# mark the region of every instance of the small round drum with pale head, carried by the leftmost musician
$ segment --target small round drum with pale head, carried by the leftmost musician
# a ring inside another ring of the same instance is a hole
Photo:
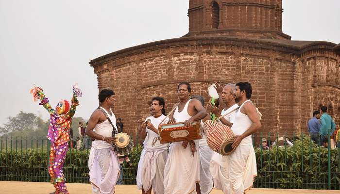
[[[129,154],[134,146],[132,138],[126,133],[117,133],[115,137],[117,137],[117,142],[113,147],[116,149],[117,153],[120,155]]]

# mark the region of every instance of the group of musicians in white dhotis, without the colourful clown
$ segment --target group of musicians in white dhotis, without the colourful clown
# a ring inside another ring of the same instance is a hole
[[[144,139],[143,150],[137,170],[137,187],[142,194],[207,194],[218,188],[223,193],[243,194],[253,185],[256,176],[255,151],[252,134],[261,123],[250,97],[252,87],[249,82],[227,84],[216,83],[221,99],[218,107],[204,108],[204,98],[191,96],[191,86],[182,82],[177,87],[179,102],[165,115],[165,100],[153,97],[150,116],[138,122],[137,131]],[[92,113],[86,134],[95,140],[89,156],[89,175],[93,193],[112,194],[121,177],[121,165],[125,156],[118,156],[112,148],[117,141],[112,133],[122,130],[121,120],[117,122],[111,107],[115,93],[104,89],[99,94],[101,106]],[[238,109],[235,109],[238,108]],[[102,109],[112,121],[104,116]],[[162,123],[184,122],[190,126],[194,121],[210,119],[210,112],[223,115],[235,111],[221,119],[221,124],[231,128],[236,135],[232,147],[235,151],[222,156],[207,146],[203,134],[201,140],[174,142],[170,145],[159,141],[158,126]],[[118,119],[117,119],[118,120]],[[113,127],[112,127],[113,126]]]

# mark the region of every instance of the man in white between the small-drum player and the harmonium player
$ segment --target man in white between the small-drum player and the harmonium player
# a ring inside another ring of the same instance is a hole
[[[159,143],[158,125],[165,119],[165,102],[162,97],[153,97],[149,116],[142,123],[139,132],[145,136],[145,151],[141,165],[138,168],[142,194],[164,194],[164,166],[168,158],[168,144]],[[167,123],[168,120],[166,119]]]

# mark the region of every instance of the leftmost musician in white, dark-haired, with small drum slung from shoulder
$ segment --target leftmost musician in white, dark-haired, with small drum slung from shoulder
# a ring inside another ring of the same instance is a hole
[[[115,101],[114,95],[115,93],[108,89],[103,89],[100,92],[98,98],[101,106],[92,113],[86,127],[86,134],[95,139],[92,142],[88,159],[93,194],[115,193],[119,177],[117,153],[112,146],[116,143],[112,132],[113,130],[117,132],[116,116],[111,111]]]

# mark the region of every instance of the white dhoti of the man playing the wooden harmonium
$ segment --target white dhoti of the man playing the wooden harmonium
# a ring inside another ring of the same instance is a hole
[[[195,141],[198,150],[198,141]],[[172,143],[164,169],[165,194],[195,194],[196,183],[200,181],[200,156],[192,156],[190,145],[183,148],[182,142]]]

